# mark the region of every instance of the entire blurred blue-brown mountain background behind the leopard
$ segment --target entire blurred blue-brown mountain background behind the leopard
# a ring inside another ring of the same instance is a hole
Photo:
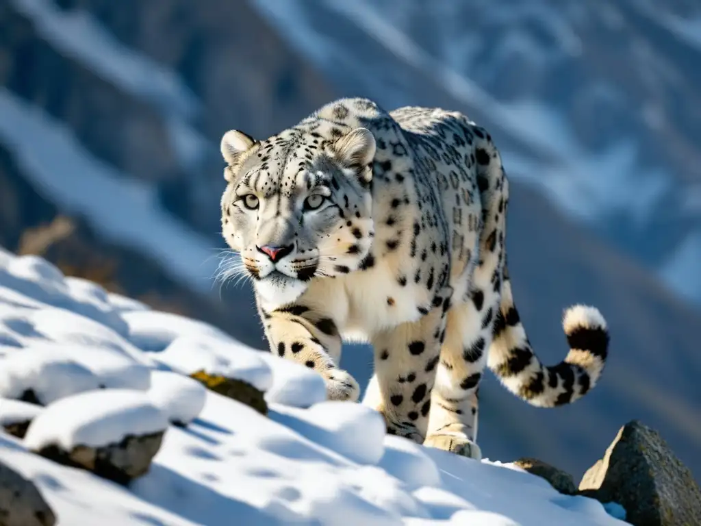
[[[538,410],[488,377],[479,442],[580,475],[639,418],[701,473],[701,4],[692,0],[0,0],[0,245],[264,349],[220,288],[219,138],[341,96],[457,109],[512,180],[515,297],[611,326],[604,377]],[[360,381],[367,346],[343,363]]]

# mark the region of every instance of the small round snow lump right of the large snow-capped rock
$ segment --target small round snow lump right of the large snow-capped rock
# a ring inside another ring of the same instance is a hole
[[[205,407],[207,389],[197,380],[176,372],[153,371],[149,398],[172,424],[186,425]]]

